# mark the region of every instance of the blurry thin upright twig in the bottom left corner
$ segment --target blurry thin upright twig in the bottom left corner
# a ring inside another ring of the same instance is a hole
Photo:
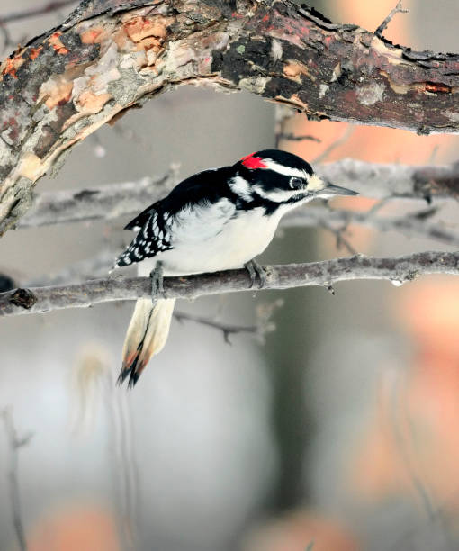
[[[23,528],[23,517],[21,513],[21,500],[19,494],[19,448],[26,446],[30,439],[31,433],[20,438],[14,428],[13,414],[9,408],[1,411],[4,420],[4,430],[6,438],[8,438],[8,446],[10,453],[10,468],[8,472],[11,508],[13,512],[14,531],[18,540],[21,551],[27,551],[27,542]]]

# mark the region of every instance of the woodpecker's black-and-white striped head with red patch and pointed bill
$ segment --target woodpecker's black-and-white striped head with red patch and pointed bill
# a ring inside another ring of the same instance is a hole
[[[330,184],[315,174],[305,160],[278,149],[265,149],[247,155],[236,163],[235,168],[238,176],[231,187],[246,199],[255,193],[272,203],[298,203],[334,195],[357,194]]]

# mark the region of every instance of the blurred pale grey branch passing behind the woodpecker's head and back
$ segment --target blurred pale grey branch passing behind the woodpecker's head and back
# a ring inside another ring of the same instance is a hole
[[[319,165],[316,170],[331,182],[356,189],[365,197],[375,199],[414,199],[422,202],[427,197],[456,199],[459,190],[457,165],[412,167],[366,163],[347,158]],[[101,218],[111,220],[137,214],[148,204],[164,197],[176,182],[177,168],[173,166],[165,176],[85,190],[36,194],[31,209],[18,221],[17,228]]]

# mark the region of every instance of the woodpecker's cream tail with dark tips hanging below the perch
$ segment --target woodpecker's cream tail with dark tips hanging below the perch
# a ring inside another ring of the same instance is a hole
[[[129,386],[134,386],[148,364],[166,344],[175,299],[139,299],[130,320],[122,349],[121,374],[118,383],[129,376]]]

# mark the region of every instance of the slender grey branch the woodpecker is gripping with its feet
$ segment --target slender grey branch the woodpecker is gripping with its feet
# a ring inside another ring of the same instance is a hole
[[[428,274],[459,275],[459,253],[422,252],[404,257],[377,258],[356,255],[308,264],[266,266],[266,289],[320,285],[332,288],[340,281],[377,279],[401,285]],[[251,291],[247,270],[216,274],[166,277],[166,298],[194,299],[202,295]],[[134,300],[151,294],[148,277],[112,277],[84,284],[16,289],[0,294],[0,315],[50,312],[97,303]]]

